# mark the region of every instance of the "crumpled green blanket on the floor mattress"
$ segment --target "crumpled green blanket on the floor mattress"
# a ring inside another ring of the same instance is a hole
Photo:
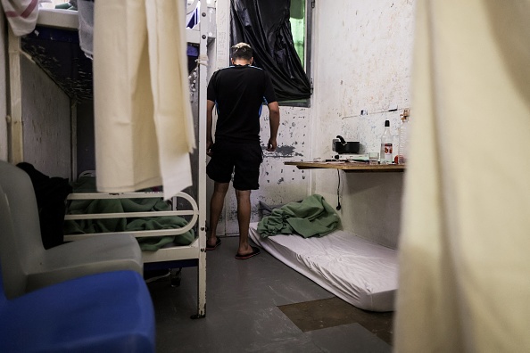
[[[301,202],[290,202],[273,209],[270,216],[261,219],[258,233],[261,238],[276,234],[300,234],[304,238],[331,233],[340,218],[322,196],[313,194]]]

